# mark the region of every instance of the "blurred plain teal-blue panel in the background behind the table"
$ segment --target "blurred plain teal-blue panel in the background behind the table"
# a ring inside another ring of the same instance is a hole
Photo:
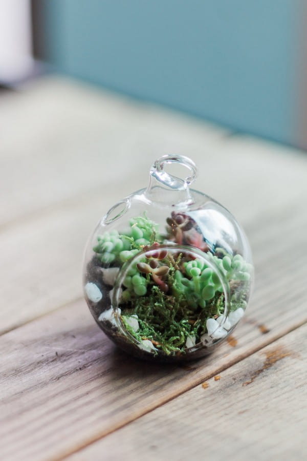
[[[295,143],[296,0],[44,0],[63,73]]]

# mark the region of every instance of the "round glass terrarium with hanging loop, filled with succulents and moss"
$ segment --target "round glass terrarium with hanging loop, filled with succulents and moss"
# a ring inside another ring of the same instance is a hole
[[[167,173],[169,163],[187,167],[189,176]],[[161,157],[148,187],[114,205],[87,243],[86,302],[102,330],[137,357],[201,357],[247,307],[247,238],[227,209],[189,187],[195,178],[189,158]]]

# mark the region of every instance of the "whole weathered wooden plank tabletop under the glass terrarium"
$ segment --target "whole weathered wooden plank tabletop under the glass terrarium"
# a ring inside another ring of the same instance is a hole
[[[256,266],[231,340],[185,365],[122,354],[82,298],[87,236],[165,153]],[[306,459],[304,153],[50,77],[1,95],[0,155],[1,459]]]

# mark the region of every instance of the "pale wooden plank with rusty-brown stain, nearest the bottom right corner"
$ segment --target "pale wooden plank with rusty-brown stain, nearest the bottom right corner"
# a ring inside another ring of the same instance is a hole
[[[68,459],[306,459],[306,338],[287,334]]]

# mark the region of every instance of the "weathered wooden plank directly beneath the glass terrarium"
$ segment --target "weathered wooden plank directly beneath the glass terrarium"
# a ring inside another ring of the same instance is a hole
[[[305,228],[304,219],[298,214],[293,225]],[[188,366],[162,366],[126,357],[99,331],[83,301],[4,334],[0,338],[3,457],[61,458],[304,323],[304,235],[296,233],[295,239],[286,239],[276,249],[266,245],[267,234],[262,231],[262,240],[257,240],[262,283],[249,313],[233,341],[207,359]]]

